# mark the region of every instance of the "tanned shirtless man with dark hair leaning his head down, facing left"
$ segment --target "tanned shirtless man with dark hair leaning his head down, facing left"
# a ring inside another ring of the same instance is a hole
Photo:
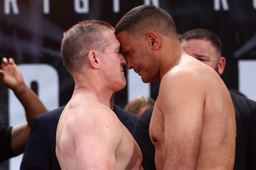
[[[180,46],[172,17],[153,5],[130,10],[115,35],[144,83],[161,80],[149,133],[157,170],[232,170],[235,116],[220,76]]]

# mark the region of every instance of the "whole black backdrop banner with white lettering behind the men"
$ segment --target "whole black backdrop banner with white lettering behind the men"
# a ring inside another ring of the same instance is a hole
[[[67,104],[74,80],[62,64],[63,32],[86,19],[115,24],[133,7],[154,4],[166,10],[178,34],[193,28],[214,31],[223,45],[226,67],[221,78],[256,100],[256,0],[0,0],[0,53],[14,58],[25,83],[47,109]],[[127,85],[115,95],[124,108],[138,95],[156,99],[159,81],[143,83],[133,70],[125,69]],[[0,84],[0,125],[25,121],[25,111],[11,90]],[[17,170],[22,156],[0,169]]]

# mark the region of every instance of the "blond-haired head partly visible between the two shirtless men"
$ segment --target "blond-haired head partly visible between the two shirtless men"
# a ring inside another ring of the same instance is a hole
[[[140,116],[147,108],[153,106],[154,104],[155,100],[151,97],[137,96],[126,104],[124,110]]]

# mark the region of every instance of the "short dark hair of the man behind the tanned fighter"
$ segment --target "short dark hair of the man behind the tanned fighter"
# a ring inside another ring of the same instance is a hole
[[[222,45],[220,42],[220,38],[213,31],[203,29],[203,28],[196,28],[196,29],[192,29],[187,32],[184,32],[184,34],[182,34],[179,38],[180,43],[184,40],[188,41],[191,39],[208,40],[209,42],[211,42],[213,47],[215,47],[217,53],[220,54],[218,57],[220,58],[222,56]]]

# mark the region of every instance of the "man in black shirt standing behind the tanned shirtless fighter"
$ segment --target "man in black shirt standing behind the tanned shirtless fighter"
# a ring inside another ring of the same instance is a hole
[[[220,39],[212,31],[194,29],[180,37],[182,48],[190,56],[204,62],[221,75],[224,72],[225,58],[222,57]],[[230,92],[234,104],[237,136],[234,170],[256,169],[256,102]],[[149,124],[153,107],[148,108],[137,120],[133,137],[141,148],[142,167],[155,170],[155,148],[149,137]]]

